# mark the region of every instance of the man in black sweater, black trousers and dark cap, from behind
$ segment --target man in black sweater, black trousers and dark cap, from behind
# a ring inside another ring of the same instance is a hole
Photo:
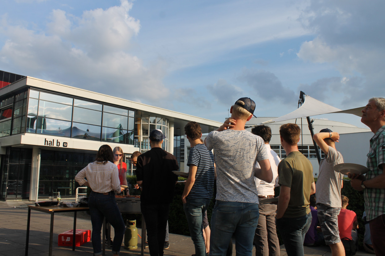
[[[136,178],[142,187],[141,211],[146,222],[151,256],[162,256],[170,203],[174,198],[179,169],[176,157],[161,148],[163,135],[159,129],[149,135],[151,150],[137,157]]]

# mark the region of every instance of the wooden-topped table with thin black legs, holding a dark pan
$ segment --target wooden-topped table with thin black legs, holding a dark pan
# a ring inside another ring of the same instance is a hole
[[[41,211],[44,213],[49,213],[51,215],[50,223],[50,233],[49,233],[49,256],[52,256],[52,238],[54,233],[54,214],[62,212],[74,212],[74,235],[72,238],[72,251],[75,251],[75,232],[76,232],[76,213],[78,211],[88,211],[88,207],[60,207],[60,206],[34,206],[28,205],[28,217],[27,217],[27,237],[25,239],[25,255],[28,255],[28,245],[29,245],[29,228],[31,221],[31,210]]]

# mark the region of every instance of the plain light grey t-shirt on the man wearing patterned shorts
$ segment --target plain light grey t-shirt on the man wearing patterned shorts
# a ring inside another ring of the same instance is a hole
[[[320,172],[316,183],[316,200],[329,207],[341,208],[341,185],[343,174],[333,170],[334,165],[342,164],[340,152],[329,146],[328,157],[320,162]]]

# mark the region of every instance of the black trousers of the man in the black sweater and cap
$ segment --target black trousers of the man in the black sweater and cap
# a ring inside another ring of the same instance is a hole
[[[166,225],[170,211],[169,203],[141,203],[146,222],[147,241],[151,256],[163,256]]]

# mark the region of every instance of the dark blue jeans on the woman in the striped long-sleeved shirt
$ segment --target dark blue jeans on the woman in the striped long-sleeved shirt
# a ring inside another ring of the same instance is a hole
[[[90,208],[92,223],[91,240],[92,247],[94,248],[94,255],[97,256],[102,254],[100,233],[104,217],[114,227],[115,231],[114,243],[112,243],[112,253],[119,254],[126,226],[124,225],[122,215],[116,204],[114,192],[103,195],[92,191],[88,199],[88,206]]]

